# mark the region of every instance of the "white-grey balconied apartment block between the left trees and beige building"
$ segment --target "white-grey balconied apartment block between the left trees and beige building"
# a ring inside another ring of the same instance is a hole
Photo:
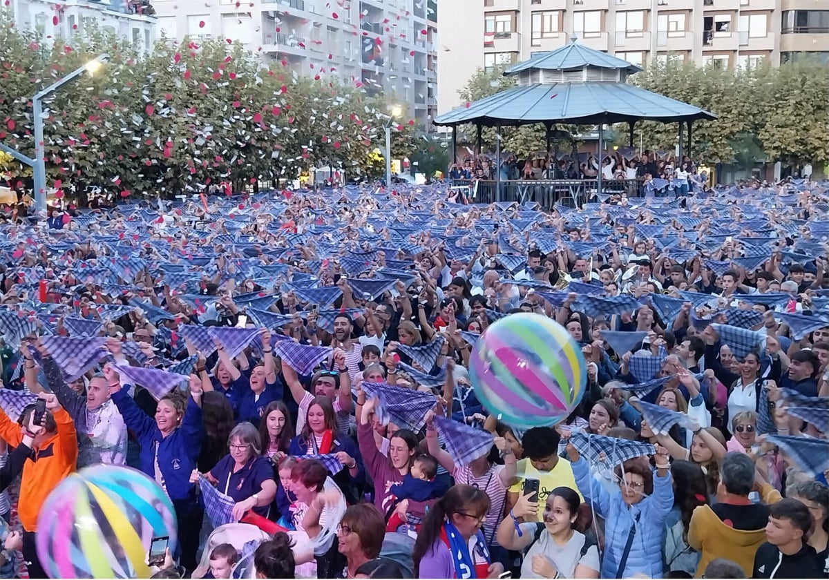
[[[381,89],[424,127],[437,114],[436,0],[153,0],[160,34],[240,41],[299,75]]]

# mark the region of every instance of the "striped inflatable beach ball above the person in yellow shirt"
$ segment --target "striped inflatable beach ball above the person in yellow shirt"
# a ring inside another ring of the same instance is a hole
[[[511,427],[560,423],[581,401],[587,369],[570,333],[541,314],[496,321],[469,358],[469,380],[489,413]]]

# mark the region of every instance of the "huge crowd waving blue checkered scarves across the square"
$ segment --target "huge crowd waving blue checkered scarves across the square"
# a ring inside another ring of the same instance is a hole
[[[45,578],[39,510],[97,463],[172,500],[158,578],[829,576],[827,183],[454,199],[0,216],[0,576]],[[470,382],[517,312],[584,355],[555,425]]]

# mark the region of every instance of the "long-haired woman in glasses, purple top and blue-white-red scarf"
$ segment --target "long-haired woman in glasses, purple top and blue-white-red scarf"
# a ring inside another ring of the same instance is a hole
[[[473,486],[452,486],[429,510],[414,542],[417,578],[498,578],[502,563],[491,563],[481,526],[489,496]]]

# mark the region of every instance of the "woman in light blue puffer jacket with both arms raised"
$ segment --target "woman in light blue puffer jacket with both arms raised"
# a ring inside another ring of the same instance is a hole
[[[567,454],[584,501],[607,522],[601,578],[637,573],[662,578],[663,527],[674,500],[667,449],[657,446],[655,476],[642,457],[617,466],[619,485],[613,491],[590,475],[588,463],[572,443]]]

